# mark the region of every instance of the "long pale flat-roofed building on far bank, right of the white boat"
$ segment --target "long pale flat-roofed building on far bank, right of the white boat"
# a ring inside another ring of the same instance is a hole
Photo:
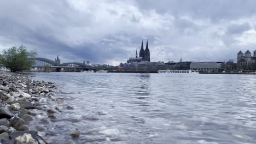
[[[198,71],[217,71],[222,64],[223,62],[192,62],[190,69]]]

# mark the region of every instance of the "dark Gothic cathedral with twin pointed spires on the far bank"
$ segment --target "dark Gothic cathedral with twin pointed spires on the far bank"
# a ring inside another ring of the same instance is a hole
[[[147,44],[146,44],[146,49],[145,50],[144,50],[143,40],[142,40],[142,42],[141,42],[141,50],[139,50],[139,57],[138,57],[138,52],[136,50],[135,57],[130,57],[127,60],[127,63],[142,62],[142,61],[150,62],[150,52],[149,52],[149,49],[148,49],[148,40],[147,40]]]

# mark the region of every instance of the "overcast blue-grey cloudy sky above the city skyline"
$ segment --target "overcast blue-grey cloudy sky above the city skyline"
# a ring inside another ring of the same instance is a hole
[[[24,45],[62,62],[119,64],[148,39],[152,61],[236,60],[256,50],[251,0],[0,0],[0,50]],[[146,44],[144,44],[146,45]]]

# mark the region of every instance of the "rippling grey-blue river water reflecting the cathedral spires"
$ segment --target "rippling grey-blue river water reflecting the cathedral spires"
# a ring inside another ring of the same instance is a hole
[[[46,131],[55,143],[75,129],[75,143],[256,143],[255,75],[34,75],[64,99]]]

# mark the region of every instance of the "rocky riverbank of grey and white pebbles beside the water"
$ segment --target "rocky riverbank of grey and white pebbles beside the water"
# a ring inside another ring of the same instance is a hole
[[[55,89],[52,82],[0,71],[0,143],[51,143],[45,130],[60,109],[47,101],[63,101]]]

